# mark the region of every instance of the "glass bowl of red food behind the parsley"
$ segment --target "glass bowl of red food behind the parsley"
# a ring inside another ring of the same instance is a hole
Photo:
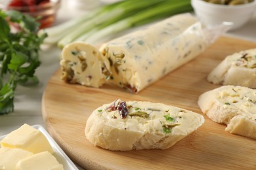
[[[24,14],[30,14],[38,22],[41,23],[39,29],[51,26],[56,20],[56,13],[60,8],[60,0],[49,0],[47,3],[32,6],[10,6],[9,4],[15,0],[6,1],[0,0],[0,9],[3,10],[18,10]]]

